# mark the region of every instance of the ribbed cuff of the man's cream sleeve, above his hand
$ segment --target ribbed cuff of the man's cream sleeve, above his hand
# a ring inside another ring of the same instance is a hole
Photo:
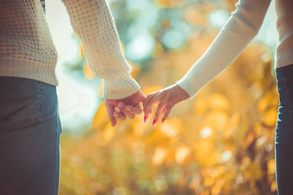
[[[130,74],[111,80],[103,79],[104,89],[103,98],[105,99],[123,99],[138,92],[141,87]]]

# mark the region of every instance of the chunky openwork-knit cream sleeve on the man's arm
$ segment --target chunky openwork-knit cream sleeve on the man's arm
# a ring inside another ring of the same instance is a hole
[[[130,76],[106,0],[63,0],[91,71],[104,80],[103,98],[122,99],[140,90]]]

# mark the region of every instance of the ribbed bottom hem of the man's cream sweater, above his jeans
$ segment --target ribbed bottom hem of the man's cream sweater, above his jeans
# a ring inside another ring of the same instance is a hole
[[[0,76],[30,78],[58,86],[55,68],[30,61],[0,59]]]

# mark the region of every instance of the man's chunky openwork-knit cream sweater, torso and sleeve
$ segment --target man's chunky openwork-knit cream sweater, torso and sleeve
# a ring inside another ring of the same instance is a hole
[[[130,76],[106,0],[63,3],[90,69],[104,80],[103,97],[121,99],[137,92],[140,86]],[[1,0],[0,76],[31,78],[57,86],[57,59],[40,0]]]

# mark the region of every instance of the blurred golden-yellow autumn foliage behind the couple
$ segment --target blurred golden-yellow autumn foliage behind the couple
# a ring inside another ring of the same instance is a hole
[[[115,3],[111,6],[118,6]],[[209,1],[153,3],[164,12],[182,12],[183,20],[197,30],[184,46],[175,49],[161,42],[161,34],[171,28],[172,20],[162,20],[152,31],[155,47],[151,58],[140,65],[128,61],[132,77],[145,94],[184,76],[218,33],[206,21],[208,14],[219,8],[230,12],[235,1],[223,0],[220,7]],[[176,105],[169,118],[154,127],[152,119],[145,124],[141,115],[113,128],[102,102],[92,128],[81,137],[66,132],[61,137],[60,194],[276,194],[278,94],[271,66],[270,49],[251,43],[225,72],[194,98]],[[94,78],[86,63],[83,71],[86,78]]]

